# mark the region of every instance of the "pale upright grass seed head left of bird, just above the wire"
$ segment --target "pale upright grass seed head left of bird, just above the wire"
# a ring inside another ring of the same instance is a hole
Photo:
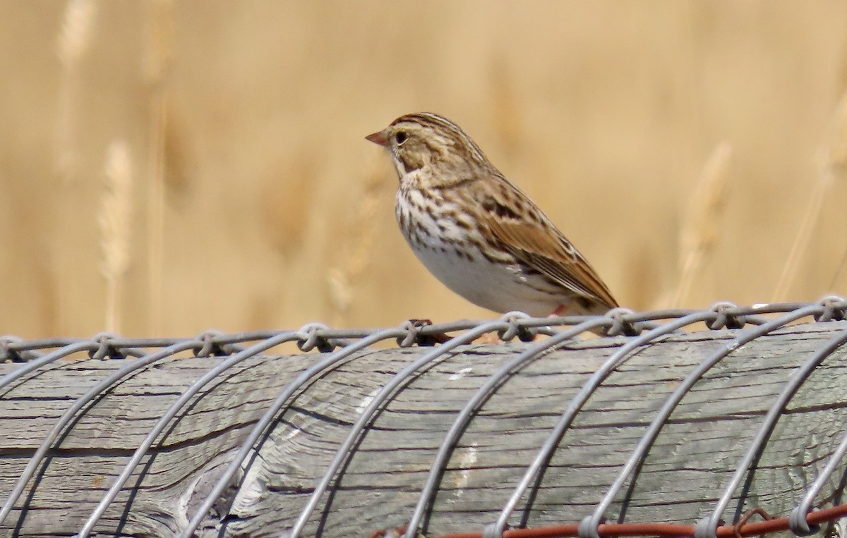
[[[106,279],[106,327],[120,332],[121,280],[130,265],[130,213],[132,167],[123,140],[113,142],[106,153],[106,189],[97,217],[100,226],[102,274]]]

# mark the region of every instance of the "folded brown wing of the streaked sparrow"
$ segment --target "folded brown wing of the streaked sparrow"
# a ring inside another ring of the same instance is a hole
[[[583,255],[532,200],[512,188],[514,190],[506,196],[484,194],[478,199],[482,208],[481,223],[490,230],[491,236],[519,261],[574,294],[601,302],[610,309],[616,307],[612,292]],[[529,218],[518,217],[522,214]]]

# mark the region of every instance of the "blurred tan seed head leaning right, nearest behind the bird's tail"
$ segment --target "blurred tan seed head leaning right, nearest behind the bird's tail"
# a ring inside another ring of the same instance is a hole
[[[728,166],[732,145],[722,142],[711,152],[695,188],[680,233],[680,277],[673,305],[682,305],[695,277],[715,249],[720,221],[727,199]]]

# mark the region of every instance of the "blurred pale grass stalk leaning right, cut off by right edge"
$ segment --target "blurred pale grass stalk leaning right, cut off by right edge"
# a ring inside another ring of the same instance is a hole
[[[803,220],[800,222],[800,230],[797,232],[797,237],[794,238],[788,260],[785,261],[782,275],[780,275],[777,287],[773,292],[774,302],[788,299],[789,288],[797,277],[800,261],[805,257],[805,252],[811,243],[811,233],[821,215],[827,191],[832,187],[835,178],[844,175],[844,170],[847,169],[847,92],[844,92],[844,96],[841,97],[839,106],[835,111],[832,135],[829,137],[827,146],[820,153],[818,169],[817,181],[811,191],[809,205],[805,209]],[[838,272],[840,272],[840,267]],[[836,277],[838,272],[836,272]]]

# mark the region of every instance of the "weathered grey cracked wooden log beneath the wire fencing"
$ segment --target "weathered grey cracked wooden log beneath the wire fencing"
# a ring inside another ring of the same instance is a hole
[[[844,330],[845,322],[789,327],[736,349],[711,369],[663,427],[609,519],[624,507],[628,520],[641,521],[693,523],[709,513],[794,369]],[[635,353],[590,398],[534,504],[513,523],[524,515],[531,525],[577,522],[590,513],[678,382],[736,334],[680,334]],[[503,384],[452,454],[429,534],[479,530],[493,521],[570,399],[625,341],[569,343]],[[457,411],[526,345],[465,346],[396,393],[324,495],[306,535],[368,535],[404,524]],[[356,354],[297,395],[258,447],[237,495],[219,503],[224,517],[210,513],[198,535],[277,536],[290,527],[369,396],[424,351]],[[824,361],[789,404],[742,509],[787,513],[826,464],[847,432],[845,354],[839,349]],[[209,385],[152,447],[97,525],[98,535],[167,536],[183,528],[264,409],[319,357],[256,357]],[[221,360],[164,360],[105,393],[64,432],[0,535],[73,535],[158,417]],[[64,409],[122,362],[66,360],[0,390],[0,500]],[[0,376],[17,367],[0,365]],[[822,503],[840,499],[844,469],[830,480]],[[725,518],[733,519],[735,509]]]

